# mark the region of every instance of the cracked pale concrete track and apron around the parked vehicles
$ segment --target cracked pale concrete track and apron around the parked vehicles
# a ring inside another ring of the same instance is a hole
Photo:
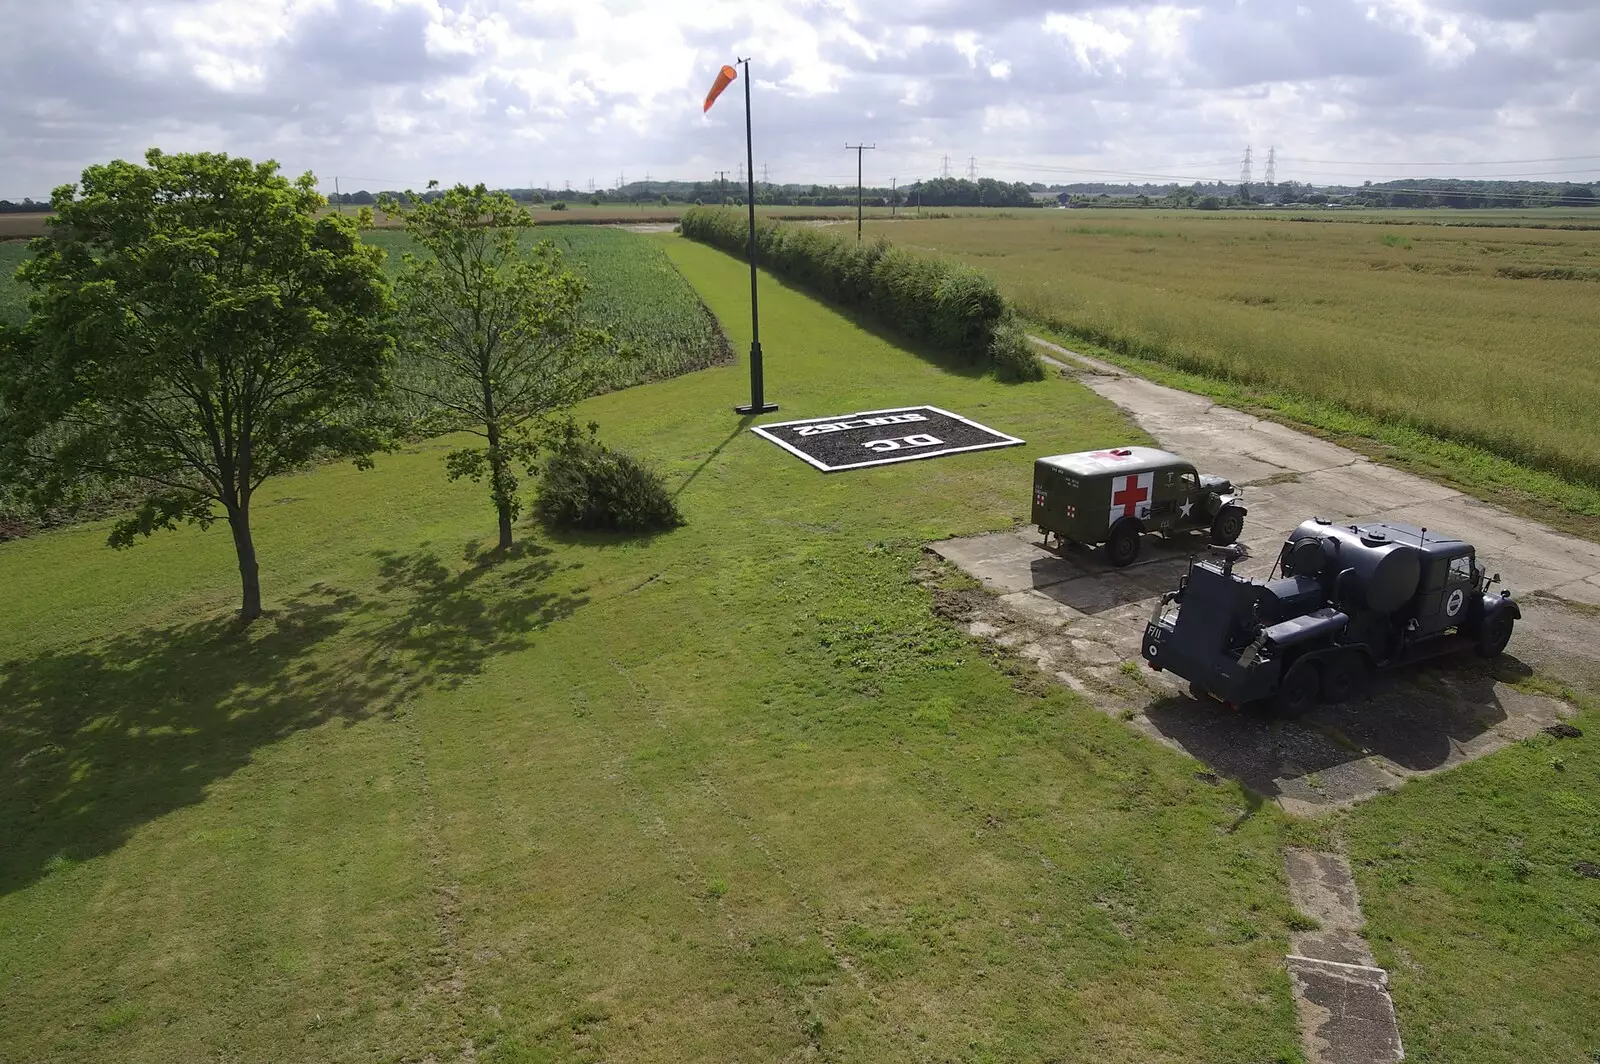
[[[1202,472],[1245,486],[1250,518],[1240,571],[1264,576],[1283,538],[1307,517],[1400,520],[1470,541],[1523,608],[1509,651],[1389,674],[1366,698],[1278,720],[1197,702],[1170,674],[1126,669],[1162,592],[1178,586],[1200,536],[1146,536],[1139,562],[1112,570],[1098,552],[1045,550],[1032,528],[950,539],[931,549],[994,592],[949,614],[1158,742],[1181,749],[1314,814],[1482,757],[1557,723],[1571,709],[1517,686],[1534,669],[1600,690],[1600,544],[1565,536],[1459,491],[1381,466],[1347,448],[1214,402],[1123,374],[1043,344],[1051,362],[1110,398],[1158,443]],[[1070,360],[1074,365],[1066,365]],[[1022,488],[1019,488],[1021,491]]]

